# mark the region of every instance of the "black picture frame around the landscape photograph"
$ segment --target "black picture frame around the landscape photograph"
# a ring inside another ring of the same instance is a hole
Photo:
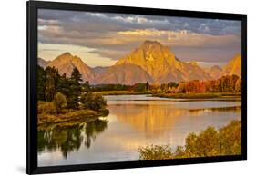
[[[26,173],[55,173],[82,170],[113,170],[138,167],[167,166],[194,163],[247,160],[247,15],[183,10],[167,10],[112,5],[84,5],[28,1],[27,5],[27,150]],[[136,15],[167,15],[197,18],[218,18],[241,21],[241,155],[204,158],[186,158],[177,160],[145,160],[79,164],[65,166],[37,166],[37,130],[36,130],[36,65],[37,65],[37,9],[61,9],[72,11],[108,12]]]

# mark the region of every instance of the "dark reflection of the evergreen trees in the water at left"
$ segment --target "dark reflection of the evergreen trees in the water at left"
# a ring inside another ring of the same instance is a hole
[[[97,137],[97,134],[107,129],[108,121],[99,120],[72,125],[69,127],[57,126],[48,131],[38,131],[37,151],[60,150],[65,158],[70,151],[78,151],[81,143],[87,148]]]

